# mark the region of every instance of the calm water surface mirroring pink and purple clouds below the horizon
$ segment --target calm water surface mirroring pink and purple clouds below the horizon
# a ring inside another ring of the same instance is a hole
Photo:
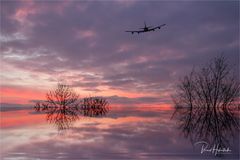
[[[112,107],[104,115],[70,118],[33,109],[2,111],[1,159],[239,159],[237,129],[224,137],[229,154],[201,154],[173,112]]]

